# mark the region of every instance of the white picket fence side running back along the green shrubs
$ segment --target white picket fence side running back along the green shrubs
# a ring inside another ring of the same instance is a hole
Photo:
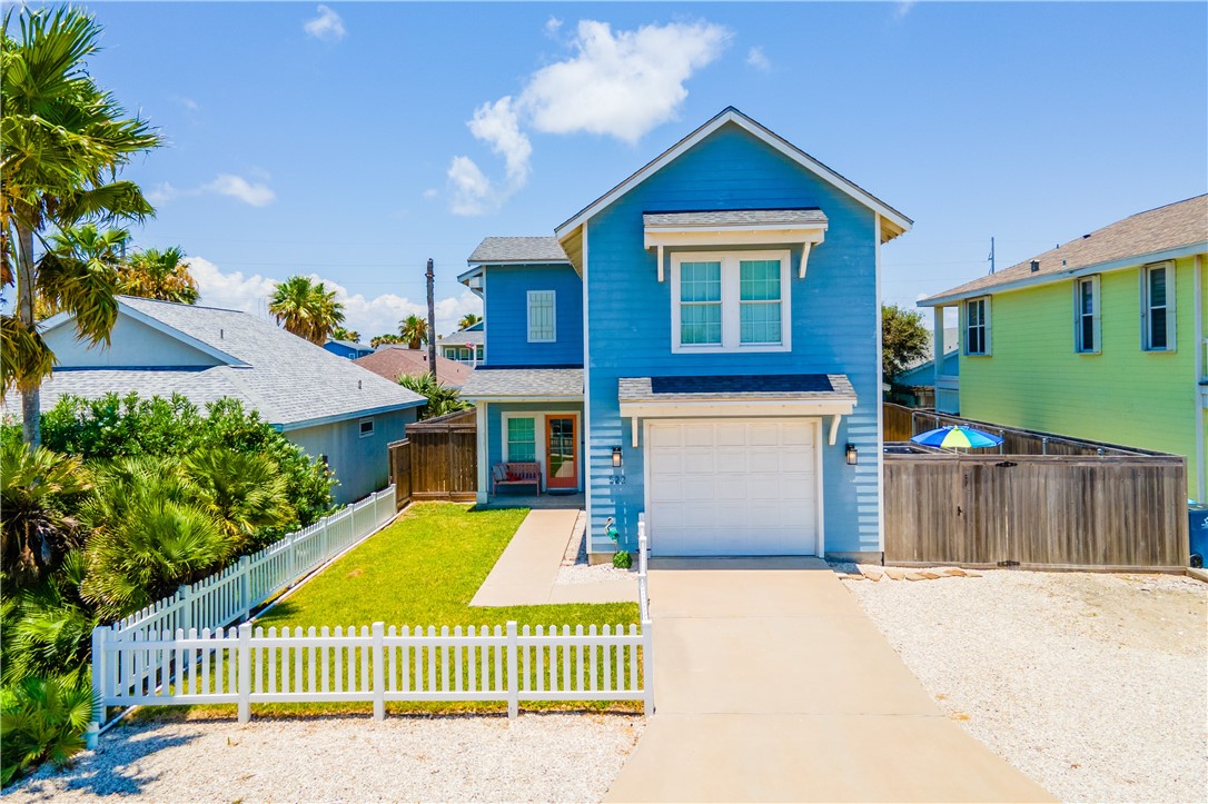
[[[394,487],[390,485],[254,555],[244,555],[208,578],[181,587],[170,598],[101,628],[109,630],[110,636],[147,639],[152,634],[213,629],[246,619],[256,606],[366,538],[394,514]]]

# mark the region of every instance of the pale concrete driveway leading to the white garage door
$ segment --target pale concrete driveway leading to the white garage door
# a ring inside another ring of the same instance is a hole
[[[651,563],[655,715],[609,802],[1050,802],[817,559]]]

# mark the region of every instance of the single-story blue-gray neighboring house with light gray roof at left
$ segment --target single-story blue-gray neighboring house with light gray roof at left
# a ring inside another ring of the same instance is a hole
[[[42,409],[65,395],[110,391],[182,394],[204,407],[234,397],[312,456],[323,456],[347,503],[383,488],[387,444],[405,435],[426,400],[246,313],[118,297],[111,344],[89,348],[71,317],[47,319],[42,337],[58,357],[42,385]],[[4,413],[21,415],[19,395]]]

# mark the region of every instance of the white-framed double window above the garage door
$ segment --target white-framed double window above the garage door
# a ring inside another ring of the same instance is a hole
[[[672,255],[672,351],[789,349],[789,252]]]

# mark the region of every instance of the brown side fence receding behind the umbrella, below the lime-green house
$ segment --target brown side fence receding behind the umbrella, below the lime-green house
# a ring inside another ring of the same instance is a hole
[[[1148,449],[1133,447],[1121,447],[1099,441],[1087,441],[1084,438],[1070,438],[1057,436],[1050,432],[1036,430],[1024,430],[1022,427],[1004,427],[991,421],[978,421],[976,419],[962,419],[960,416],[936,413],[935,410],[923,410],[907,408],[892,402],[882,403],[882,425],[884,441],[910,441],[911,437],[946,427],[948,425],[964,425],[976,427],[989,433],[1003,437],[1001,447],[987,449],[975,449],[971,454],[994,455],[1162,455]]]

